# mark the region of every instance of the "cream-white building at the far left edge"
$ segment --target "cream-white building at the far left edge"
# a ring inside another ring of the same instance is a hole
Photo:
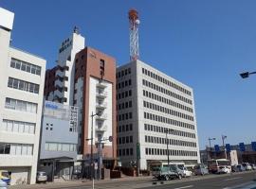
[[[14,13],[0,8],[0,169],[35,183],[46,60],[9,46]]]

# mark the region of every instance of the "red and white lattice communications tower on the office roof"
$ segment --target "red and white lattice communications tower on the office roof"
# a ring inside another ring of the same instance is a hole
[[[137,60],[139,57],[138,12],[136,9],[130,9],[128,15],[129,15],[129,24],[130,24],[130,60]]]

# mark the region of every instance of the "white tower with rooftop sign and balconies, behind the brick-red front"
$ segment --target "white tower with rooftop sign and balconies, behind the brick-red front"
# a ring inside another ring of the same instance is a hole
[[[73,105],[75,56],[84,48],[85,39],[77,27],[72,35],[61,43],[57,66],[46,71],[46,99]],[[52,75],[52,77],[50,77]],[[54,82],[54,85],[52,84]]]

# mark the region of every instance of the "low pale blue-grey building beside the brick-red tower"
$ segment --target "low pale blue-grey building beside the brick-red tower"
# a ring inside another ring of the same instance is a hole
[[[77,159],[78,108],[46,101],[43,112],[39,170],[71,179]],[[54,173],[52,173],[54,170]]]

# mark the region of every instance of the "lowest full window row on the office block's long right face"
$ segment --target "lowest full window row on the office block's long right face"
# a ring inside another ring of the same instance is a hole
[[[146,147],[145,153],[146,153],[146,155],[166,156],[168,151],[167,151],[167,149]],[[171,156],[197,156],[197,151],[169,149],[169,155],[171,155]]]

